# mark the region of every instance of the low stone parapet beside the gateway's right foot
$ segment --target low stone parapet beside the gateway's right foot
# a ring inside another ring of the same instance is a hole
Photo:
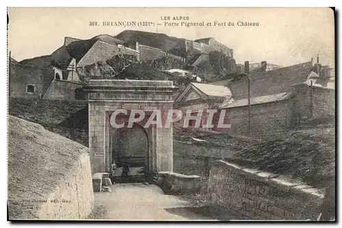
[[[200,192],[200,176],[173,172],[159,172],[157,185],[167,194]]]

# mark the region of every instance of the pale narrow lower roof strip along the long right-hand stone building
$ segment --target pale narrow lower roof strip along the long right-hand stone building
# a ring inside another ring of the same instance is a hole
[[[256,105],[259,103],[269,103],[269,102],[274,102],[274,101],[284,101],[286,99],[289,99],[291,97],[292,93],[291,92],[281,92],[278,94],[270,94],[266,96],[261,96],[261,97],[252,97],[250,99],[250,104],[251,105]],[[220,108],[231,108],[231,107],[241,107],[241,106],[246,106],[248,105],[248,99],[241,99],[238,101],[235,101],[231,104],[228,105],[222,105]]]

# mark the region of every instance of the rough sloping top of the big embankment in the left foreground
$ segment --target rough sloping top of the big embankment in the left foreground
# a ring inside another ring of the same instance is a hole
[[[8,118],[8,213],[34,219],[88,148],[21,118]],[[34,201],[32,203],[32,201]]]

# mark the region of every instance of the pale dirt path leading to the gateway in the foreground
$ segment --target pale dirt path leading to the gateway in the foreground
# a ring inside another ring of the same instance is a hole
[[[212,220],[192,212],[192,205],[163,194],[155,185],[120,183],[112,192],[94,192],[95,206],[88,219],[101,220]]]

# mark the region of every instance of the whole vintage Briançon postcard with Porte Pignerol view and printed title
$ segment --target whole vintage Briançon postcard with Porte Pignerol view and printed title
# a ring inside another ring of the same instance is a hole
[[[334,221],[332,8],[8,8],[8,220]]]

